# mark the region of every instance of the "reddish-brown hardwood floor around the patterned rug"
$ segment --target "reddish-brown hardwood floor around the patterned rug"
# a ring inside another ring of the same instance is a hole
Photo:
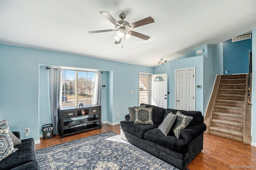
[[[65,136],[62,139],[60,135],[48,139],[40,138],[41,143],[36,144],[36,150],[107,131],[120,134],[120,127],[106,124],[102,129]],[[190,170],[256,169],[256,147],[213,134],[204,134],[204,149],[187,168]]]

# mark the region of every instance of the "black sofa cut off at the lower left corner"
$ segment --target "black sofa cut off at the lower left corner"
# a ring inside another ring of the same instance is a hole
[[[20,139],[20,132],[12,132]],[[14,153],[0,161],[0,170],[40,170],[36,161],[35,144],[33,138],[23,139],[14,146],[18,148]]]

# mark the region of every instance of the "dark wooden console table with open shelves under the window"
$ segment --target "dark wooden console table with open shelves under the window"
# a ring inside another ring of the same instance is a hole
[[[101,129],[100,105],[62,107],[58,109],[58,132],[61,138],[96,128]]]

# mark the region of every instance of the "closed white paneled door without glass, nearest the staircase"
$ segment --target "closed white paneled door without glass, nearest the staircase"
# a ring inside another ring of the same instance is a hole
[[[176,109],[194,111],[194,68],[176,70]]]

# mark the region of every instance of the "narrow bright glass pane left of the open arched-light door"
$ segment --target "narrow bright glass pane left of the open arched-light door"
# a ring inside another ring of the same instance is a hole
[[[150,79],[148,74],[140,74],[139,79],[139,105],[140,103],[150,104]]]

